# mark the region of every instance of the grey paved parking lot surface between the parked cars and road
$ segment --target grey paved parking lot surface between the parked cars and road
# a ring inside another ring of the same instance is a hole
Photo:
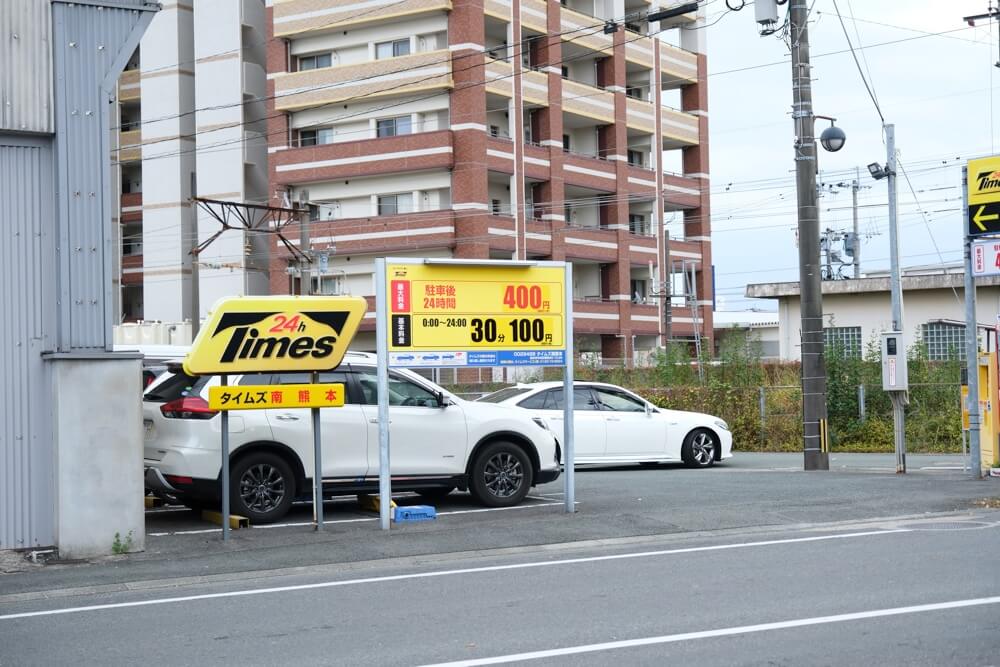
[[[908,475],[893,474],[891,455],[839,455],[830,473],[805,473],[797,454],[738,454],[708,470],[680,466],[595,468],[577,472],[577,513],[563,511],[562,480],[537,487],[520,506],[484,510],[465,493],[437,503],[438,519],[394,524],[353,497],[325,505],[322,532],[312,509],[295,507],[271,527],[221,529],[183,508],[147,514],[147,550],[90,564],[29,567],[0,578],[0,595],[77,585],[230,575],[317,564],[364,563],[393,557],[517,549],[681,533],[763,530],[890,516],[961,512],[1000,497],[1000,480],[973,481],[953,456],[911,456]],[[400,504],[422,502],[401,495]],[[235,573],[235,574],[234,574]]]

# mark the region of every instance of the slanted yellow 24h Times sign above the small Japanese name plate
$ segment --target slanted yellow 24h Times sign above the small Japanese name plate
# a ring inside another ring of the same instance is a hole
[[[233,297],[215,304],[184,359],[188,375],[336,368],[367,310],[362,297]]]

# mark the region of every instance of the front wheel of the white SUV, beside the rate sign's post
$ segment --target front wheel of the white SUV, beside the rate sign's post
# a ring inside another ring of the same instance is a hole
[[[534,469],[527,452],[510,442],[494,442],[476,456],[469,490],[486,507],[510,507],[528,495],[532,479]]]

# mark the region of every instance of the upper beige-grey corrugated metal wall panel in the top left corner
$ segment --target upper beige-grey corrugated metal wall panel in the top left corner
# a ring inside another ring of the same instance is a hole
[[[0,130],[52,132],[49,3],[0,2]]]

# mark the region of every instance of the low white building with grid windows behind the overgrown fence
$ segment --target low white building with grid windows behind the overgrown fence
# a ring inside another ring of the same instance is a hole
[[[912,267],[903,270],[903,334],[907,347],[921,341],[931,359],[962,356],[965,346],[965,293],[961,266]],[[993,327],[1000,313],[1000,277],[976,280],[977,321]],[[747,285],[746,296],[778,301],[778,354],[800,358],[799,283]],[[864,354],[868,343],[892,326],[888,272],[872,272],[858,280],[823,282],[826,342],[852,355]]]

